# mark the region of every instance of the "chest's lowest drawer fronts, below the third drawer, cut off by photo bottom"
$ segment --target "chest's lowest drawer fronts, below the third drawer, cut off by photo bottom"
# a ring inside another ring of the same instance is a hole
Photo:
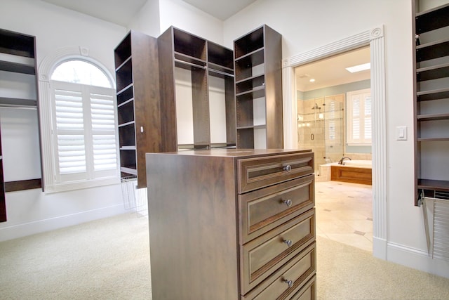
[[[242,300],[315,299],[316,244],[313,242],[300,254],[255,287]],[[310,296],[310,298],[308,298]]]

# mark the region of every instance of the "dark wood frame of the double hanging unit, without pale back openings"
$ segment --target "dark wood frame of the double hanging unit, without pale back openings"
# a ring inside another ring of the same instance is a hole
[[[234,68],[232,50],[170,27],[158,38],[159,77],[161,86],[161,119],[163,150],[180,148],[214,148],[235,145]],[[176,72],[180,68],[190,72],[192,81],[193,144],[179,145],[177,139],[177,101],[184,100],[176,93]],[[210,133],[210,80],[225,81],[226,141],[215,145]]]

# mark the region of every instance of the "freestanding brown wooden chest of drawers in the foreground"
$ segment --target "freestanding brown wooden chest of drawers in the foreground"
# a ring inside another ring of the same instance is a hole
[[[146,158],[154,300],[315,298],[313,152]]]

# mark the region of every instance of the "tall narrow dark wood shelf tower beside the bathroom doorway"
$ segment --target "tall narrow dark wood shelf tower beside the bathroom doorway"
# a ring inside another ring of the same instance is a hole
[[[234,40],[237,148],[283,148],[281,60],[267,25]]]

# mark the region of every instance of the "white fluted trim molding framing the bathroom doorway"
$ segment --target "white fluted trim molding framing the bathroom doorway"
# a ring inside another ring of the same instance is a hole
[[[294,68],[315,60],[370,46],[373,99],[373,254],[387,259],[387,115],[385,98],[384,26],[312,49],[282,62],[284,148],[297,148]]]

